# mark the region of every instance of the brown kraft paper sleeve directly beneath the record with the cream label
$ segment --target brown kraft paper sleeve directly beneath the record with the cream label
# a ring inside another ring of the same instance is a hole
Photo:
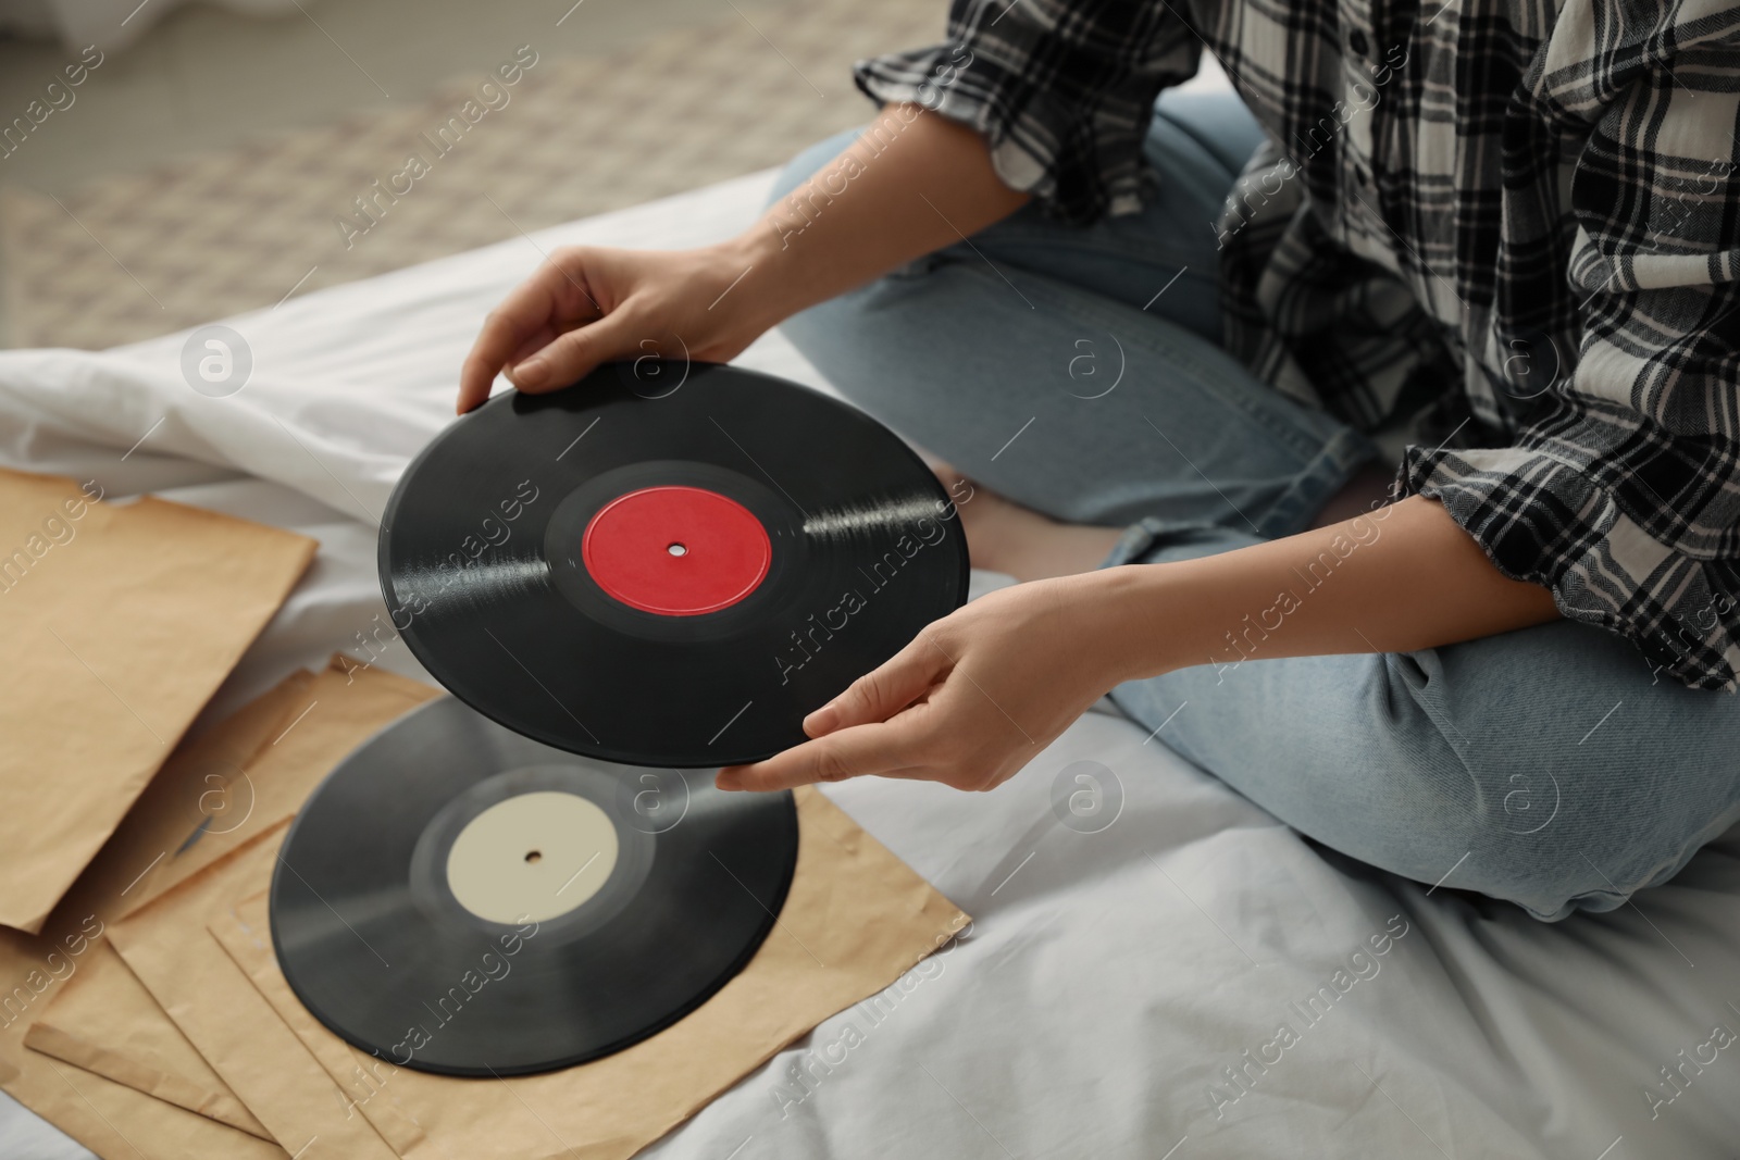
[[[797,802],[797,875],[748,967],[658,1035],[564,1071],[498,1082],[393,1068],[348,1047],[289,991],[263,896],[212,915],[211,929],[404,1160],[621,1160],[828,1016],[894,983],[967,922],[820,791],[804,788]],[[440,1033],[433,1017],[428,1028]]]

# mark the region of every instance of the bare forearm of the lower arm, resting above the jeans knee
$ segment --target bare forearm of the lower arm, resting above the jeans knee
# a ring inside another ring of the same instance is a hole
[[[1115,682],[1192,664],[1409,652],[1557,617],[1432,499],[1213,557],[1081,577]]]

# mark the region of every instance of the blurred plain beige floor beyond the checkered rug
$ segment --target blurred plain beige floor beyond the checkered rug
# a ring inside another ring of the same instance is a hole
[[[532,43],[545,59],[599,57],[733,17],[726,0],[585,0],[569,10],[572,2],[298,0],[306,16],[292,9],[282,19],[177,7],[96,70],[77,113],[50,118],[30,148],[0,160],[0,181],[64,197],[90,177],[405,108],[491,68],[508,45]],[[56,43],[0,40],[0,123],[71,59],[77,52]]]

